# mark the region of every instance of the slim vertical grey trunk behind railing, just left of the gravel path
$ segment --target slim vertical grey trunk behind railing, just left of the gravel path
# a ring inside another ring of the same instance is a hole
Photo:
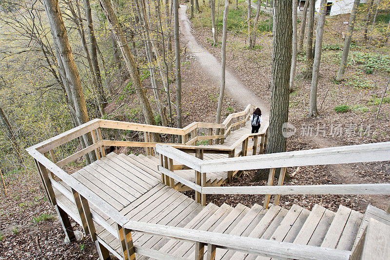
[[[174,0],[174,17],[175,17],[175,56],[176,56],[176,120],[177,127],[182,128],[181,121],[181,72],[180,72],[180,38],[179,38],[179,0]],[[181,136],[177,137],[177,141],[181,142]]]

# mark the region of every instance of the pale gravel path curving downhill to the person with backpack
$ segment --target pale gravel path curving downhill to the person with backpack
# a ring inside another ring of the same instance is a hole
[[[191,53],[197,58],[202,72],[217,85],[221,85],[221,63],[203,46],[201,46],[191,32],[191,25],[186,15],[187,6],[180,5],[179,25],[180,38],[184,41]],[[249,103],[259,107],[264,120],[268,121],[270,117],[269,105],[260,100],[250,89],[248,89],[234,74],[227,68],[225,78],[225,91],[229,96],[236,100],[240,105],[246,107]]]

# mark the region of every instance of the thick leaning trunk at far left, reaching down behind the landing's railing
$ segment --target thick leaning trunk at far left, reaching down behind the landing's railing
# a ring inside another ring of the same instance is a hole
[[[75,60],[72,55],[72,50],[68,41],[67,31],[62,20],[61,12],[59,10],[58,0],[44,0],[43,1],[47,18],[50,24],[50,31],[53,36],[54,45],[56,48],[56,57],[63,66],[65,77],[62,80],[67,80],[70,86],[70,94],[75,107],[76,120],[78,125],[89,121],[87,106],[82,91],[80,76]],[[64,85],[65,85],[64,84]],[[92,145],[92,137],[90,134],[85,134],[83,140],[86,146]],[[95,161],[95,153],[89,153],[86,156],[87,162]]]

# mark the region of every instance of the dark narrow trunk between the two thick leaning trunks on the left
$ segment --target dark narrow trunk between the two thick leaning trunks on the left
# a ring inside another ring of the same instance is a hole
[[[94,68],[96,83],[97,83],[97,90],[98,90],[98,100],[102,103],[103,107],[103,113],[104,113],[104,107],[107,104],[106,95],[104,94],[103,89],[103,83],[101,81],[101,73],[98,63],[98,41],[95,37],[94,32],[94,25],[92,22],[92,12],[91,12],[91,3],[89,0],[84,0],[84,8],[85,8],[85,17],[87,18],[87,25],[88,25],[88,38],[90,42],[90,50],[91,50],[91,60],[92,60],[92,67]]]

